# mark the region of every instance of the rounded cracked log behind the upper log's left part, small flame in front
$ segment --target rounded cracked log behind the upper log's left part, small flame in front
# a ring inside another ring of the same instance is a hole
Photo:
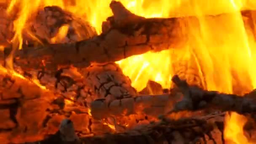
[[[28,21],[28,23],[29,31],[43,44],[74,43],[97,35],[96,30],[87,21],[83,21],[57,6],[43,8],[38,12],[35,20]],[[63,27],[64,29],[61,29]],[[58,37],[60,30],[63,30],[63,35]],[[28,34],[24,35],[27,37],[25,40],[32,41]]]

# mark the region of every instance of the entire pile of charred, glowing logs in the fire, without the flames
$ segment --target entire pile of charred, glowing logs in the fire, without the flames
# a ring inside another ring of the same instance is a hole
[[[166,93],[149,81],[148,86],[157,89],[149,95],[147,88],[136,91],[114,63],[147,51],[182,48],[189,33],[186,26],[199,25],[196,17],[146,19],[116,1],[110,8],[113,16],[103,22],[101,35],[56,6],[43,8],[28,21],[27,32],[38,40],[24,33],[27,43],[13,57],[16,72],[0,67],[2,143],[221,144],[225,111],[247,116],[245,135],[255,139],[254,91],[243,97],[205,91],[197,69],[190,79],[183,72],[189,67],[183,67],[176,70],[179,76],[173,77],[173,88]],[[12,51],[9,40],[16,18],[4,10],[3,6],[2,66]],[[255,12],[242,12],[249,27],[250,13]],[[65,24],[69,26],[66,38],[51,44]]]

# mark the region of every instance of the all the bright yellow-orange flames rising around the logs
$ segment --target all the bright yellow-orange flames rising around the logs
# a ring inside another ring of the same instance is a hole
[[[13,47],[22,48],[22,32],[31,13],[40,6],[58,5],[75,13],[84,20],[90,21],[101,33],[101,23],[112,15],[109,9],[111,0],[11,0],[8,13],[17,3],[21,8],[14,22],[15,36]],[[131,78],[132,85],[138,91],[143,89],[148,80],[155,80],[163,88],[171,85],[173,75],[171,65],[182,61],[182,56],[193,58],[199,67],[208,90],[225,93],[245,93],[256,88],[256,42],[252,32],[243,24],[240,11],[255,9],[255,0],[121,0],[131,12],[144,17],[197,16],[198,24],[190,23],[189,40],[182,51],[176,52],[179,58],[172,57],[173,51],[145,53],[117,61],[125,75]],[[86,5],[86,6],[85,6]],[[207,14],[224,14],[223,16],[206,17]],[[67,27],[62,27],[56,37],[64,37]],[[56,38],[53,38],[53,43]],[[188,54],[188,55],[187,55]],[[239,90],[237,90],[239,88]],[[244,91],[246,90],[246,91]],[[237,144],[248,143],[243,136],[245,118],[232,112],[227,115],[225,139]]]

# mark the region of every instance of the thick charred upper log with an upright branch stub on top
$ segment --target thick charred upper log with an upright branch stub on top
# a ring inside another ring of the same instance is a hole
[[[77,43],[24,48],[15,54],[15,63],[24,69],[56,68],[57,65],[69,64],[87,67],[91,62],[113,62],[147,51],[179,48],[189,38],[189,24],[195,25],[193,30],[200,30],[199,20],[194,16],[146,19],[129,12],[120,2],[112,1],[110,7],[114,16],[102,24],[101,35]],[[208,18],[228,15],[220,14]],[[1,60],[10,51],[10,48],[5,48],[5,53],[0,56]]]

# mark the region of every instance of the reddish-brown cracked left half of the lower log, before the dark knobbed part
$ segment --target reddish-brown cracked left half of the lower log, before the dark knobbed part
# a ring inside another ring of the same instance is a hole
[[[95,119],[109,116],[151,115],[158,117],[172,109],[182,99],[181,94],[141,95],[137,97],[117,99],[110,103],[98,99],[91,103],[91,115]]]

